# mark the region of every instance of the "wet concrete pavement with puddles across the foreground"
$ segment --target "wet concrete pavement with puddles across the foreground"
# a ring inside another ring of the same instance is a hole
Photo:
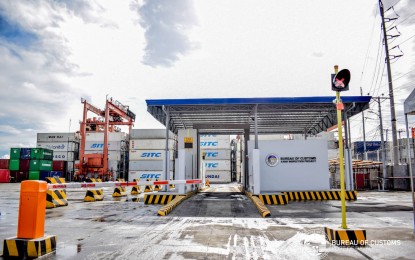
[[[16,235],[19,184],[0,184],[0,252]],[[157,216],[161,205],[115,200],[85,203],[85,190],[68,190],[69,205],[46,212],[45,233],[57,252],[43,259],[414,259],[409,192],[359,192],[347,202],[349,227],[365,228],[370,246],[328,245],[323,227],[341,223],[340,201],[268,205],[262,218],[236,185],[212,185]],[[143,197],[140,194],[139,197]]]

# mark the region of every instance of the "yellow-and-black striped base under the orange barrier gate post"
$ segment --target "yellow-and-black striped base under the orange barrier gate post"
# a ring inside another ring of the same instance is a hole
[[[38,258],[56,251],[56,236],[37,239],[8,238],[3,242],[3,257]]]

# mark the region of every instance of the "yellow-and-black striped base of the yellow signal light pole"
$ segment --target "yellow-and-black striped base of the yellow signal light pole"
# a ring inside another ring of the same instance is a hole
[[[332,229],[325,227],[326,240],[340,247],[361,247],[367,245],[364,229]]]

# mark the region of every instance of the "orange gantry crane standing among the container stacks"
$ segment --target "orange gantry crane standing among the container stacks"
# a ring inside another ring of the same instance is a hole
[[[130,133],[135,122],[135,114],[128,106],[124,106],[112,98],[106,99],[104,110],[93,106],[83,98],[81,98],[81,103],[84,104],[84,112],[82,122],[80,122],[81,145],[79,164],[75,165],[78,169],[75,173],[75,180],[94,177],[94,175],[98,175],[99,178],[104,180],[110,180],[112,172],[108,171],[108,133],[119,131],[118,125],[128,125]],[[88,118],[88,111],[101,118]],[[85,154],[87,132],[104,132],[102,154]]]

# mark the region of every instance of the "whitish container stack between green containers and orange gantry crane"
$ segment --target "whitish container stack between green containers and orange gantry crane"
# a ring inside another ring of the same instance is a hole
[[[78,133],[38,133],[37,147],[53,151],[52,175],[70,180],[79,157]]]

